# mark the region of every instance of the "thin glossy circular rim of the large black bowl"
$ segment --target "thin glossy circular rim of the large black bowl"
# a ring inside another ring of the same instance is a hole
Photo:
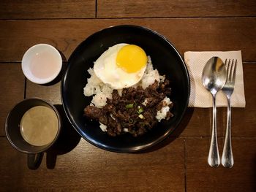
[[[111,151],[111,152],[116,152],[116,153],[135,153],[135,152],[139,152],[139,151],[142,151],[142,150],[146,150],[148,149],[149,147],[152,147],[154,145],[157,145],[159,142],[162,142],[164,139],[167,138],[168,135],[170,135],[177,127],[178,125],[181,123],[181,120],[182,118],[184,117],[184,113],[186,112],[187,110],[187,107],[188,107],[188,104],[189,104],[189,96],[190,96],[190,78],[189,78],[189,71],[187,69],[187,66],[184,62],[184,59],[181,57],[181,54],[178,52],[178,50],[176,49],[176,47],[174,47],[174,45],[166,38],[164,37],[162,34],[159,34],[157,31],[154,31],[150,28],[146,28],[144,26],[136,26],[136,25],[118,25],[118,26],[110,26],[110,27],[107,27],[107,28],[103,28],[99,31],[96,31],[94,34],[91,34],[89,35],[89,37],[87,37],[86,39],[84,39],[82,42],[80,42],[80,44],[75,48],[75,50],[73,50],[72,54],[69,56],[69,59],[67,61],[67,63],[69,64],[70,61],[72,61],[73,57],[75,57],[75,53],[77,52],[77,50],[80,49],[81,46],[83,46],[83,43],[88,41],[89,39],[91,39],[92,37],[96,36],[97,34],[100,34],[102,33],[103,31],[107,31],[107,30],[110,30],[111,28],[124,28],[124,27],[127,27],[127,28],[139,28],[139,29],[142,29],[142,30],[145,30],[145,31],[148,31],[152,34],[155,34],[159,37],[161,37],[162,39],[165,40],[165,42],[167,42],[168,45],[170,45],[170,47],[173,48],[173,50],[175,51],[176,55],[178,56],[178,58],[180,59],[181,63],[183,64],[184,66],[184,69],[185,69],[185,72],[186,72],[186,80],[187,80],[187,93],[188,93],[188,96],[187,96],[187,101],[186,101],[186,104],[184,107],[184,110],[182,111],[181,113],[181,118],[177,121],[176,123],[176,127],[175,128],[170,128],[168,131],[166,131],[165,134],[162,134],[161,137],[157,138],[156,140],[154,140],[153,142],[148,142],[144,145],[140,145],[140,146],[137,146],[137,147],[125,147],[125,148],[120,148],[120,147],[106,147],[105,145],[102,145],[100,144],[99,145],[99,142],[95,141],[94,139],[90,139],[90,138],[87,138],[85,137],[85,135],[83,133],[81,133],[79,130],[80,128],[77,128],[75,126],[75,123],[72,122],[72,118],[70,117],[69,115],[69,110],[67,109],[67,107],[65,106],[64,104],[64,95],[63,95],[63,91],[64,91],[64,82],[66,80],[66,77],[67,77],[67,72],[69,71],[69,67],[70,65],[67,66],[67,69],[66,71],[64,72],[63,76],[62,76],[62,80],[61,80],[61,102],[62,102],[62,105],[63,105],[63,108],[64,108],[64,112],[65,114],[67,115],[67,118],[69,120],[69,123],[71,123],[72,127],[75,128],[75,131],[78,132],[78,134],[80,134],[81,137],[83,137],[83,139],[85,139],[87,142],[89,142],[91,145],[94,145],[96,147],[99,147],[100,149],[102,150],[108,150],[108,151]]]

